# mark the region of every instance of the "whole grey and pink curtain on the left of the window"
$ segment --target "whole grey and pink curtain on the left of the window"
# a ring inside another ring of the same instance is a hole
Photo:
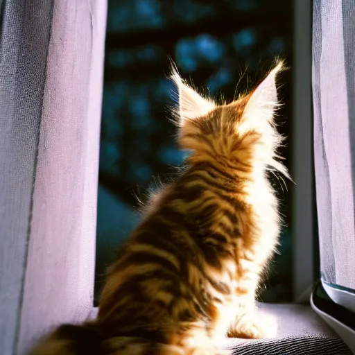
[[[6,1],[0,354],[92,310],[105,0]]]

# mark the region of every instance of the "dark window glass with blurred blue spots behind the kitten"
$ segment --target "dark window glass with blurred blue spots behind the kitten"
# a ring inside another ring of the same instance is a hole
[[[137,198],[153,176],[164,180],[182,162],[167,119],[170,56],[184,78],[232,100],[257,84],[275,55],[292,64],[292,2],[284,0],[111,0],[107,19],[101,128],[96,297],[117,246],[138,221]],[[245,67],[247,74],[243,76]],[[282,74],[279,130],[291,136],[292,76]],[[290,144],[282,148],[291,164]],[[291,191],[272,179],[285,226],[262,300],[292,299]]]

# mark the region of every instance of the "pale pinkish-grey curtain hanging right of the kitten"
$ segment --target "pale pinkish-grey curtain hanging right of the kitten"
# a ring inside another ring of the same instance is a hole
[[[315,0],[314,150],[322,281],[355,290],[355,4]]]

